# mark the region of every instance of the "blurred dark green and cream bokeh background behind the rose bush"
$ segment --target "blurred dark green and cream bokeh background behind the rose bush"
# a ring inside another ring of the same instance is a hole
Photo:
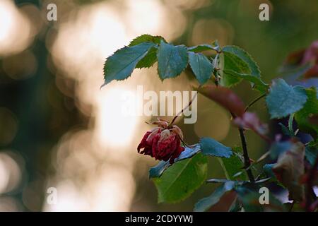
[[[50,3],[57,21],[47,21]],[[259,20],[261,3],[270,6],[269,21]],[[288,53],[317,40],[317,28],[315,0],[0,0],[0,210],[192,210],[214,186],[157,203],[148,179],[156,162],[136,152],[152,118],[118,114],[124,90],[191,90],[192,74],[162,83],[155,64],[100,90],[105,58],[144,33],[188,46],[218,40],[246,49],[269,82]],[[235,91],[246,103],[257,97],[247,83]],[[264,100],[252,111],[269,121]],[[199,96],[197,113],[196,124],[178,121],[187,143],[211,136],[239,145],[224,109]],[[253,133],[247,141],[252,158],[266,151]],[[209,177],[224,177],[216,160]],[[49,187],[57,188],[54,205]]]

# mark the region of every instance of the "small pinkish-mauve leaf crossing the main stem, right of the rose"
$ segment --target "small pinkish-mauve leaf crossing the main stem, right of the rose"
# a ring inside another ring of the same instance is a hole
[[[255,133],[264,135],[268,131],[268,126],[261,123],[257,114],[252,112],[245,112],[242,117],[237,117],[234,119],[234,124],[242,127],[243,129],[251,129]]]

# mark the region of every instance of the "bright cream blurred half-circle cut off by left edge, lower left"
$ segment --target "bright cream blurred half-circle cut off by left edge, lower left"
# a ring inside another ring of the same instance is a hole
[[[16,189],[21,180],[21,170],[11,153],[0,153],[0,194]],[[19,162],[20,163],[20,162]]]

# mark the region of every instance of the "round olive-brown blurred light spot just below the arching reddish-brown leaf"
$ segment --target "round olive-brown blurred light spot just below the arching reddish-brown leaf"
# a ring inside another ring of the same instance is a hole
[[[199,95],[198,109],[198,120],[194,124],[196,135],[199,137],[209,136],[217,141],[222,141],[230,130],[228,114],[202,95]]]

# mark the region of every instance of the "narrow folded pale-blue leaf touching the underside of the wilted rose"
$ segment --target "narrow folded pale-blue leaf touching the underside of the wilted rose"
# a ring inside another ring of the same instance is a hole
[[[200,150],[201,150],[201,147],[199,143],[194,145],[192,148],[185,147],[184,151],[182,151],[179,157],[175,159],[175,162],[192,157],[193,155],[198,153]],[[160,177],[161,174],[163,174],[163,172],[165,171],[165,169],[167,169],[170,166],[171,164],[169,161],[160,161],[158,165],[156,165],[155,167],[151,167],[151,169],[149,169],[149,178]]]

